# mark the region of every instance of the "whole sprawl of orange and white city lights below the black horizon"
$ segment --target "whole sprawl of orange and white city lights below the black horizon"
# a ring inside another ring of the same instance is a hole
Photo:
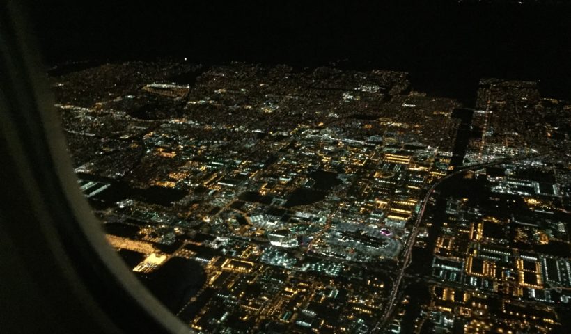
[[[564,331],[570,102],[408,78],[164,60],[50,81],[108,240],[196,331]]]

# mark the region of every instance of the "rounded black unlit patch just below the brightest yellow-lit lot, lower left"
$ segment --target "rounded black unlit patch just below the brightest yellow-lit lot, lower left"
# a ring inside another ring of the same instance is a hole
[[[157,271],[139,278],[166,308],[178,312],[201,289],[206,274],[198,262],[173,257]]]

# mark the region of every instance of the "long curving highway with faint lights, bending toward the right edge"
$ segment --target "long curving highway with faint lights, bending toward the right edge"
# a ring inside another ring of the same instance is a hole
[[[531,158],[533,158],[533,157],[529,157],[529,156],[514,157],[511,159],[499,159],[499,160],[490,161],[490,162],[484,163],[484,164],[476,164],[476,165],[471,165],[471,166],[460,167],[457,170],[455,170],[453,173],[448,174],[445,177],[442,177],[440,180],[435,182],[435,184],[432,184],[432,186],[430,186],[430,189],[428,189],[428,191],[426,192],[426,196],[424,196],[424,198],[422,200],[419,215],[416,217],[416,221],[414,221],[414,226],[412,227],[412,233],[410,234],[410,237],[407,241],[407,245],[405,246],[405,253],[404,253],[404,256],[402,257],[402,267],[400,267],[400,270],[398,271],[398,276],[396,276],[396,278],[394,280],[395,283],[393,285],[393,288],[391,289],[391,295],[389,296],[389,299],[387,301],[388,308],[386,308],[386,311],[384,312],[384,316],[382,317],[382,319],[380,319],[377,326],[375,326],[375,329],[380,329],[380,328],[384,327],[384,325],[386,324],[386,321],[389,319],[389,317],[393,313],[393,310],[397,304],[396,303],[396,297],[397,297],[398,292],[400,290],[400,283],[402,283],[402,278],[405,276],[405,270],[409,267],[409,264],[411,263],[411,260],[412,260],[412,256],[411,256],[412,255],[412,248],[414,247],[414,241],[416,240],[416,236],[419,234],[419,225],[421,224],[421,221],[423,219],[425,209],[426,209],[426,205],[428,204],[428,199],[432,195],[432,192],[435,191],[436,187],[439,186],[442,182],[448,180],[449,178],[451,178],[455,175],[458,175],[460,173],[464,173],[467,170],[489,167],[489,166],[498,165],[498,164],[506,164],[508,162],[512,162],[515,160],[531,159]],[[535,157],[535,158],[537,158],[537,157]]]

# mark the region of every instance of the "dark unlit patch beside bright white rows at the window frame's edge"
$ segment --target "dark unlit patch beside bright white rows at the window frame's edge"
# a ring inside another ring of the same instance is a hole
[[[127,182],[83,173],[78,173],[77,176],[83,180],[100,181],[111,184],[109,188],[93,196],[93,202],[97,207],[111,205],[112,203],[119,202],[120,200],[125,200],[127,198],[167,207],[173,202],[181,200],[187,196],[188,193],[184,190],[164,188],[162,186],[150,186],[148,189],[139,189],[130,186]],[[101,202],[104,204],[102,205]]]

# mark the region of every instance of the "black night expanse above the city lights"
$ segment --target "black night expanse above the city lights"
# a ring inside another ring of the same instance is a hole
[[[34,1],[48,63],[187,57],[411,72],[423,86],[541,79],[571,95],[571,7],[425,1]],[[495,3],[501,1],[494,1]],[[515,2],[515,1],[514,1]],[[459,83],[450,84],[453,82]],[[447,87],[447,88],[446,88]],[[439,88],[436,88],[438,90]]]

